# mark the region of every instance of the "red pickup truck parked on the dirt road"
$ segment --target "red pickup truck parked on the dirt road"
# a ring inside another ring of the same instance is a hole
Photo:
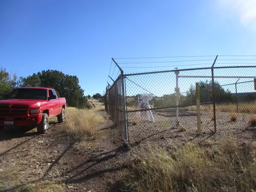
[[[65,118],[66,99],[58,98],[54,89],[42,87],[15,88],[0,100],[0,129],[4,126],[37,126],[44,134],[49,119],[57,116],[61,123]]]

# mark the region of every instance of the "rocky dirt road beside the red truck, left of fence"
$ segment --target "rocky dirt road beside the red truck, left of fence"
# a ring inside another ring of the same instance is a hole
[[[104,135],[96,147],[77,151],[63,124],[51,122],[47,134],[9,127],[0,131],[0,191],[18,191],[28,183],[60,181],[65,191],[119,191],[116,183],[128,151],[105,112]]]

